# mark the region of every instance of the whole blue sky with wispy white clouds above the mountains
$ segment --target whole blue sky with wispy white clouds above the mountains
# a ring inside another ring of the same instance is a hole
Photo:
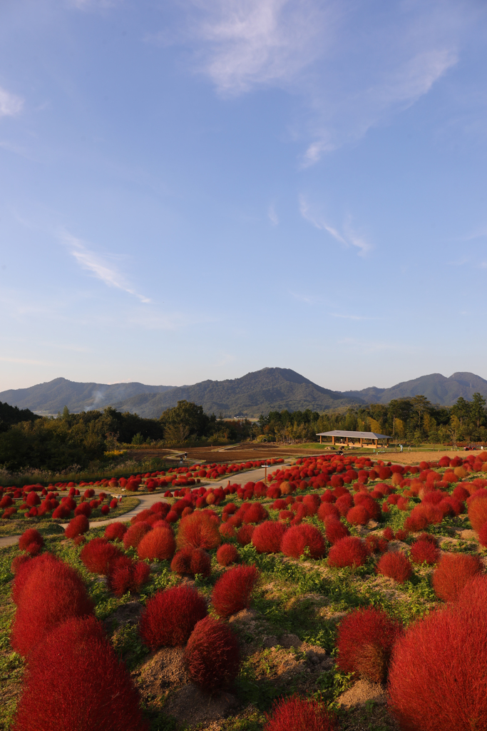
[[[0,390],[487,378],[482,0],[4,0]]]

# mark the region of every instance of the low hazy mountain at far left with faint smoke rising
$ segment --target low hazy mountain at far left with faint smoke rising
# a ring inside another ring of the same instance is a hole
[[[42,414],[57,414],[67,406],[71,412],[103,409],[104,406],[131,398],[137,393],[160,393],[172,386],[146,386],[143,383],[77,383],[55,378],[29,388],[15,388],[0,393],[0,401],[19,409]]]

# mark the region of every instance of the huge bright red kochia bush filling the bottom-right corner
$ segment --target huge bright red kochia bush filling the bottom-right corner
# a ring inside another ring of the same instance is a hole
[[[485,599],[432,612],[396,643],[388,692],[401,729],[487,730]]]

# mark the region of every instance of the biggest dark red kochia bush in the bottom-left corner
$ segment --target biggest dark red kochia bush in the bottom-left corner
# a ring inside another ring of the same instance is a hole
[[[139,694],[94,617],[56,627],[29,656],[15,731],[146,731]],[[83,702],[72,700],[72,689]]]

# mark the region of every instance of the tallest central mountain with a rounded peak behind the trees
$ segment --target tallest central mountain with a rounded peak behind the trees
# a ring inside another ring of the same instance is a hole
[[[364,401],[317,386],[289,368],[262,368],[242,378],[227,381],[202,381],[193,386],[172,388],[164,393],[142,393],[113,404],[120,411],[139,416],[159,417],[165,409],[185,398],[201,404],[207,414],[258,417],[269,411],[328,411]]]

